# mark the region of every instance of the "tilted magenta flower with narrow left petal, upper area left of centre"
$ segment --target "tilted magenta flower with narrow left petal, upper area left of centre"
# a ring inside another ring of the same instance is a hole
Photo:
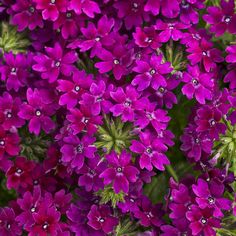
[[[100,50],[102,50],[104,46],[109,46],[114,43],[114,40],[109,35],[114,24],[114,19],[108,19],[105,15],[99,19],[97,28],[92,22],[88,23],[87,28],[81,28],[84,39],[76,43],[80,51],[86,52],[91,50],[90,57],[99,56]],[[73,44],[74,43],[72,43],[72,45]]]

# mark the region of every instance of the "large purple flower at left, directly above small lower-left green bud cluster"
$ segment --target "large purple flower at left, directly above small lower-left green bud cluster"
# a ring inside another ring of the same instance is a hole
[[[55,128],[55,123],[50,116],[55,113],[57,106],[53,101],[46,99],[46,93],[43,90],[27,89],[28,103],[22,104],[18,112],[20,118],[29,120],[29,131],[36,135],[39,135],[41,129],[49,133]]]

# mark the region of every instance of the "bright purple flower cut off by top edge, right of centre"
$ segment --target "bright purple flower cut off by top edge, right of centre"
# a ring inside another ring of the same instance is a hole
[[[154,16],[161,13],[168,18],[175,18],[179,14],[178,0],[148,0],[145,4],[144,10],[151,12]]]

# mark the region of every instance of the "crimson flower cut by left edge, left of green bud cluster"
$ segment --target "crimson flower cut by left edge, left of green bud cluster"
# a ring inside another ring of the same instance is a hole
[[[20,152],[20,137],[17,133],[10,131],[5,131],[2,126],[0,126],[0,158],[4,154],[10,156],[16,156]]]

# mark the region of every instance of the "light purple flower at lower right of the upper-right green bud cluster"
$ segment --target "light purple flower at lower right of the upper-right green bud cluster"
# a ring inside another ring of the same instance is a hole
[[[212,89],[214,82],[211,73],[201,73],[198,65],[188,66],[187,72],[183,73],[182,81],[186,83],[182,87],[182,93],[188,99],[192,99],[195,95],[197,101],[205,104],[205,100],[212,99]]]

